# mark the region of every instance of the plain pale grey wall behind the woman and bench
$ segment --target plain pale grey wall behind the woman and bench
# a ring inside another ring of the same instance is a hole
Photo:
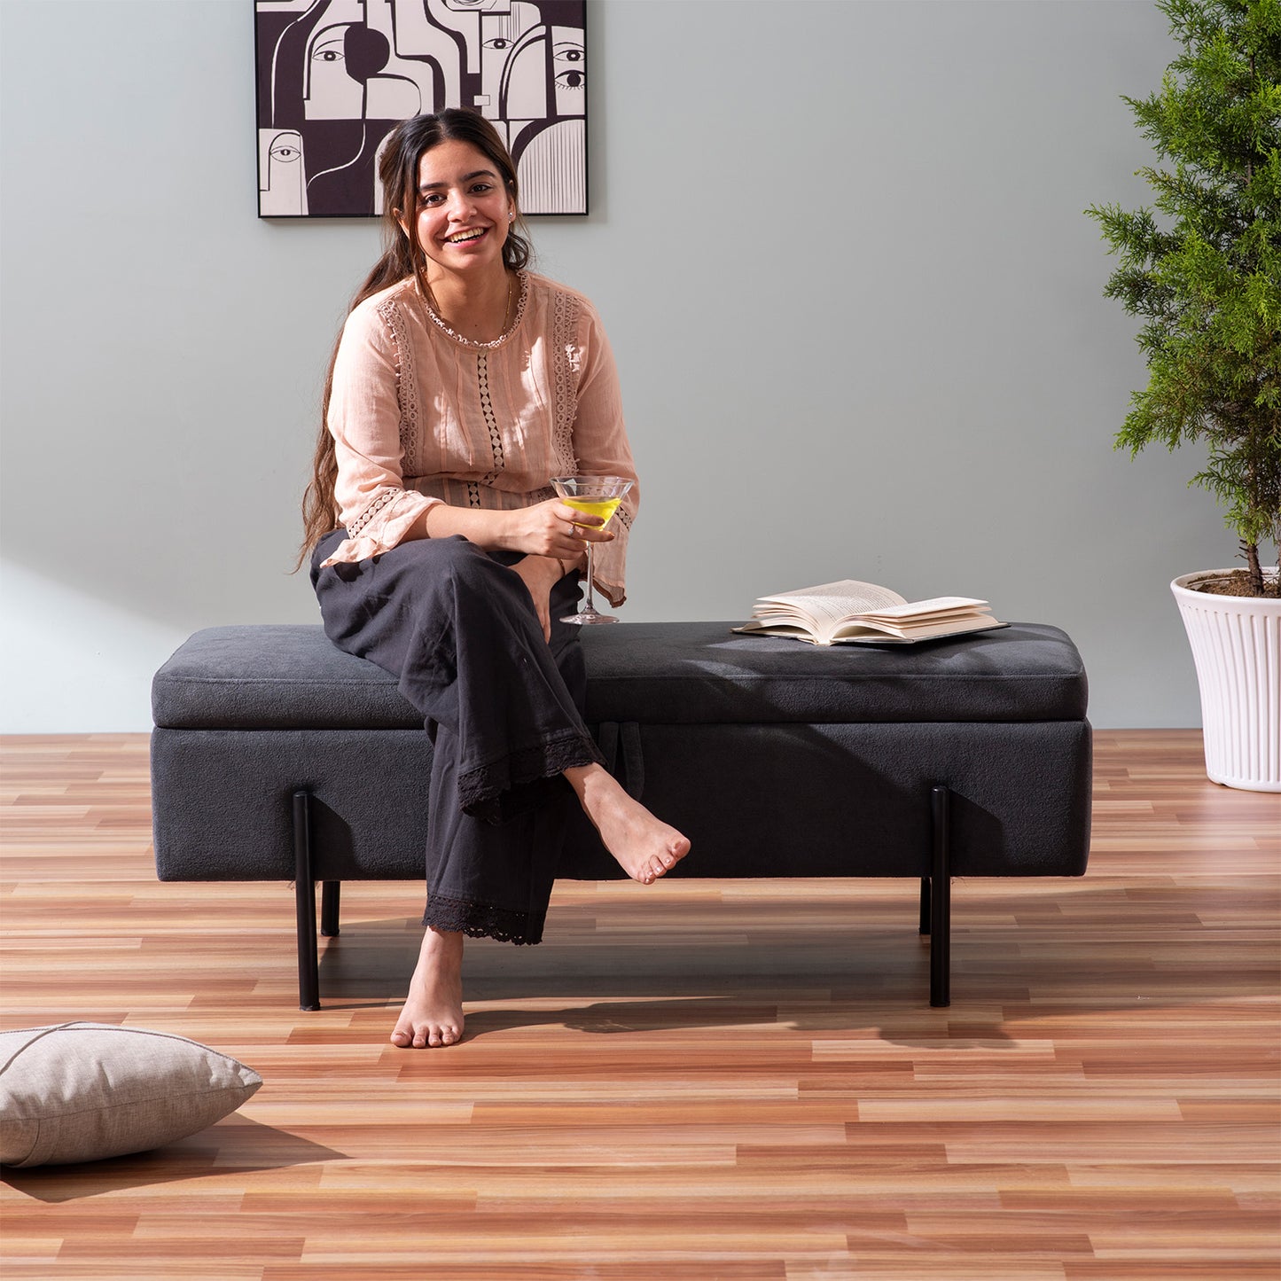
[[[8,731],[138,730],[192,629],[314,620],[288,569],[366,222],[255,216],[249,0],[5,0]],[[1149,160],[1146,3],[593,0],[591,295],[644,507],[625,616],[830,578],[1065,626],[1100,726],[1195,725],[1168,580],[1230,562],[1143,382],[1093,201]]]

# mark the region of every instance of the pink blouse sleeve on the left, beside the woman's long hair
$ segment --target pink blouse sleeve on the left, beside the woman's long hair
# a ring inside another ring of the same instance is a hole
[[[397,395],[404,357],[371,302],[347,318],[333,366],[327,423],[338,461],[338,520],[347,538],[325,565],[388,551],[439,501],[405,488]]]

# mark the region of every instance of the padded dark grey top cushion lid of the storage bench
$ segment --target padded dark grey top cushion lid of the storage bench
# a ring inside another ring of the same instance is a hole
[[[1016,624],[918,646],[740,637],[729,623],[585,629],[587,719],[642,725],[1076,721],[1081,656],[1058,628]],[[170,729],[419,729],[396,679],[319,626],[197,632],[156,673]]]

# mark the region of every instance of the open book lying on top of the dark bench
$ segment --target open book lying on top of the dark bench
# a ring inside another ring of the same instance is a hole
[[[912,644],[1008,625],[991,616],[986,601],[938,596],[908,603],[886,587],[847,578],[762,596],[752,607],[752,621],[733,630],[811,644]]]

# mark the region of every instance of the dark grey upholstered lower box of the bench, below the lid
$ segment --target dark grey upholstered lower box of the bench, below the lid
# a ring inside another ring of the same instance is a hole
[[[958,876],[1085,871],[1086,721],[634,733],[642,778],[630,781],[693,840],[678,874],[926,875],[929,794],[939,783],[953,790]],[[314,798],[320,879],[423,879],[432,756],[423,731],[156,729],[151,752],[161,880],[292,880],[298,789]],[[561,874],[621,875],[585,819],[570,834]]]

